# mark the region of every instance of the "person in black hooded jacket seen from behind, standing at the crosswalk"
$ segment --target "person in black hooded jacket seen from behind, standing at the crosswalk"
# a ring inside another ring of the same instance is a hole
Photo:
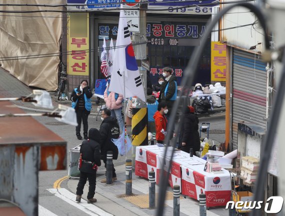
[[[88,178],[89,191],[87,194],[87,202],[93,203],[96,202],[97,199],[93,198],[96,188],[96,169],[92,167],[94,167],[94,164],[96,164],[97,166],[101,165],[99,131],[95,128],[90,128],[88,138],[89,139],[84,140],[80,146],[80,154],[82,154],[82,165],[79,168],[80,178],[76,188],[76,201],[80,202],[81,195],[83,194],[83,188]],[[88,161],[89,163],[87,163],[86,161]]]

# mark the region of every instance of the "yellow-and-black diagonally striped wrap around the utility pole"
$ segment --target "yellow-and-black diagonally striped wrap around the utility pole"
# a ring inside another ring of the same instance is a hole
[[[147,145],[147,108],[132,108],[131,144]]]

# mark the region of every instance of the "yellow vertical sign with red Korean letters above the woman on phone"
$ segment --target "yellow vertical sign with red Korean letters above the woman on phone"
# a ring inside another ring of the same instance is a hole
[[[89,16],[71,13],[67,20],[67,74],[89,75]]]

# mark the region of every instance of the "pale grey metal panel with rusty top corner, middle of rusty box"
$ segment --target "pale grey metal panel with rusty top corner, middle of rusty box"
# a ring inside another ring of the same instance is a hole
[[[14,150],[12,201],[26,215],[37,215],[39,146],[17,146]]]

